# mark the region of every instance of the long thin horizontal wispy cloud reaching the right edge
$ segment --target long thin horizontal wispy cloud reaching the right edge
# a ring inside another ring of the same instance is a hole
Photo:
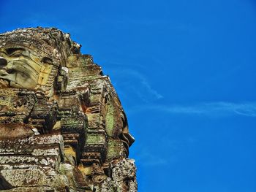
[[[211,102],[200,103],[193,105],[159,105],[145,104],[127,109],[130,113],[143,112],[153,110],[157,112],[167,112],[170,114],[184,115],[211,115],[211,116],[226,116],[226,115],[243,115],[256,117],[256,101],[231,103],[231,102]]]

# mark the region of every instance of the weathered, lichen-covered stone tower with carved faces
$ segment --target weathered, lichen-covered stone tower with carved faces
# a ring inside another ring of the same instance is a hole
[[[109,77],[57,28],[0,34],[0,190],[137,191]]]

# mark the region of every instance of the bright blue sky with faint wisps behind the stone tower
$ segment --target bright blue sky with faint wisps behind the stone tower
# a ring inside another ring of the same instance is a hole
[[[56,26],[109,74],[139,191],[256,191],[256,3],[4,1],[0,32]]]

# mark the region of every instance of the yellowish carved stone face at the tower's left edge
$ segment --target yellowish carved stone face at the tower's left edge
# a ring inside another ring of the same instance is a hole
[[[34,89],[39,81],[42,62],[29,50],[19,47],[0,49],[0,78],[12,88]]]

